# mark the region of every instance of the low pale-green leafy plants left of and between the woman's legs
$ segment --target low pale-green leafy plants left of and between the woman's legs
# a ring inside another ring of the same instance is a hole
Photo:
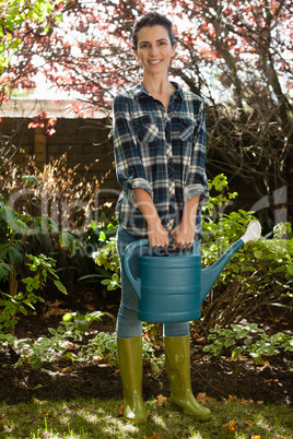
[[[112,315],[102,311],[86,316],[79,312],[67,313],[56,330],[48,329],[51,337],[42,336],[32,342],[16,341],[11,335],[1,336],[0,334],[0,341],[8,343],[20,354],[17,365],[25,364],[36,369],[39,369],[44,363],[58,357],[71,361],[102,361],[117,367],[116,332],[87,334],[91,323],[99,321],[104,316],[113,318]],[[143,340],[143,359],[151,366],[154,375],[160,373],[164,358],[154,355],[153,345],[148,340]]]

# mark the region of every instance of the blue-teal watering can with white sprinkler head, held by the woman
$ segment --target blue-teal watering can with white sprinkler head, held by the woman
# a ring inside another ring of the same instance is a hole
[[[201,269],[200,253],[195,244],[189,253],[172,257],[142,254],[138,257],[139,275],[130,270],[133,251],[149,245],[148,239],[127,246],[121,259],[122,270],[138,296],[138,319],[150,323],[172,323],[197,320],[200,307],[231,257],[248,241],[257,241],[261,227],[258,221],[222,254],[218,262]],[[172,242],[173,238],[169,238]]]

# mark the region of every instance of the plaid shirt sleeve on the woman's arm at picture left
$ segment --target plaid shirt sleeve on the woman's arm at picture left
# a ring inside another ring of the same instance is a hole
[[[133,189],[144,189],[151,197],[153,197],[153,190],[141,163],[133,135],[128,99],[124,95],[118,95],[114,99],[113,129],[117,180],[129,202],[137,206]]]

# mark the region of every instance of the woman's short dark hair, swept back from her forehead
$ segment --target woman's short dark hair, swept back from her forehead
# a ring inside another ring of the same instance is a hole
[[[146,12],[146,14],[140,16],[134,23],[131,36],[133,50],[138,49],[138,32],[142,27],[153,27],[156,25],[164,26],[167,29],[172,47],[175,45],[175,35],[172,28],[172,21],[159,12]]]

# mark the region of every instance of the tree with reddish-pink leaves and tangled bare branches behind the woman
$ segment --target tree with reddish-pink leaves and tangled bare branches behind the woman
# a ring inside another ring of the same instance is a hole
[[[117,91],[139,79],[130,32],[150,5],[70,0],[49,32],[22,27],[23,44],[7,75],[32,86],[42,70],[58,88],[79,93],[84,105],[75,111],[109,108]],[[177,28],[173,75],[207,102],[208,167],[243,178],[268,195],[272,210],[292,171],[292,1],[171,0],[159,8]]]

